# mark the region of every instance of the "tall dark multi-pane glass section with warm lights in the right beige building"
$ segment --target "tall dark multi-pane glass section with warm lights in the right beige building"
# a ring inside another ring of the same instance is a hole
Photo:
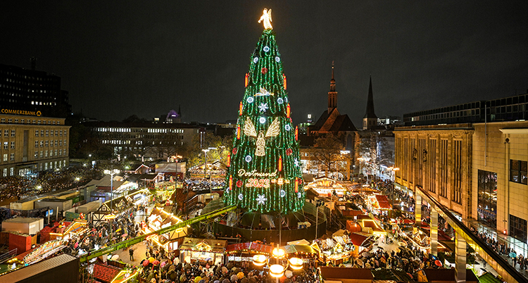
[[[497,227],[497,173],[479,170],[479,222]]]

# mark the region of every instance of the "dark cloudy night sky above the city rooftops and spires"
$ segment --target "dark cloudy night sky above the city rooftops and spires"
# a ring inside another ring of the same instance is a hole
[[[378,117],[524,94],[528,1],[4,1],[0,63],[62,77],[73,111],[185,122],[237,118],[272,8],[294,122],[327,108]]]

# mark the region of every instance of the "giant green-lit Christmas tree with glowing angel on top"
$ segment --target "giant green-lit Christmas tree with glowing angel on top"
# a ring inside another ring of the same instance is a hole
[[[258,44],[246,74],[224,202],[250,211],[288,213],[304,205],[297,135],[290,118],[286,75],[264,10]]]

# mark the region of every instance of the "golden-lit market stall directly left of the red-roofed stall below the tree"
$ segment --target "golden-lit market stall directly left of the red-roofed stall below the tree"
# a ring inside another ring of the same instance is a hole
[[[213,265],[225,264],[225,249],[227,241],[216,239],[197,239],[185,237],[180,246],[180,260],[186,263],[205,265],[209,261]]]

